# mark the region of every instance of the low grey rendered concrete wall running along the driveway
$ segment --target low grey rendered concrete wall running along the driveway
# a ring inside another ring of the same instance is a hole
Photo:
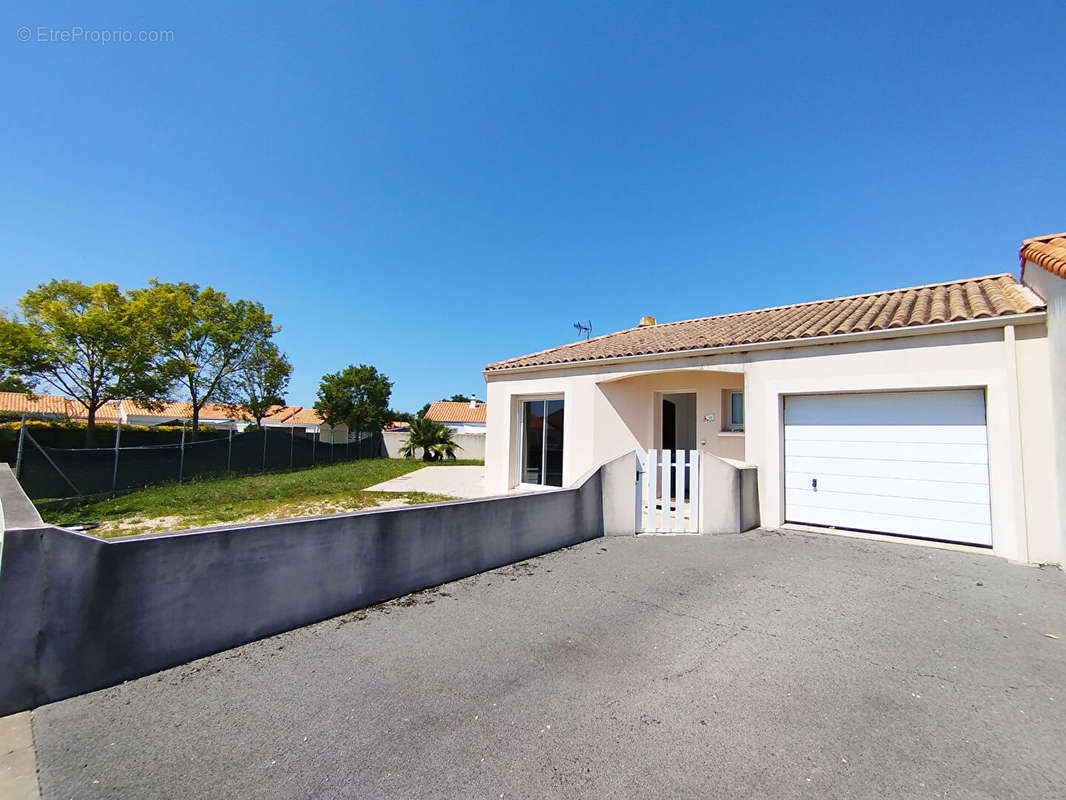
[[[603,486],[595,470],[576,489],[113,540],[23,522],[0,561],[0,716],[600,537]]]

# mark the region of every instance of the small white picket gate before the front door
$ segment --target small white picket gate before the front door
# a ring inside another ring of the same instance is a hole
[[[642,453],[636,530],[642,533],[698,533],[698,450],[648,450]]]

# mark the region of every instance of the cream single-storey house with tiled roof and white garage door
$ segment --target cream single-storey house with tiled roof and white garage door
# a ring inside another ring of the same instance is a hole
[[[646,471],[651,450],[696,450],[709,464],[754,466],[764,527],[1059,563],[1064,245],[1066,235],[1027,240],[1021,282],[999,274],[645,318],[490,364],[486,489],[567,486],[633,450]]]

